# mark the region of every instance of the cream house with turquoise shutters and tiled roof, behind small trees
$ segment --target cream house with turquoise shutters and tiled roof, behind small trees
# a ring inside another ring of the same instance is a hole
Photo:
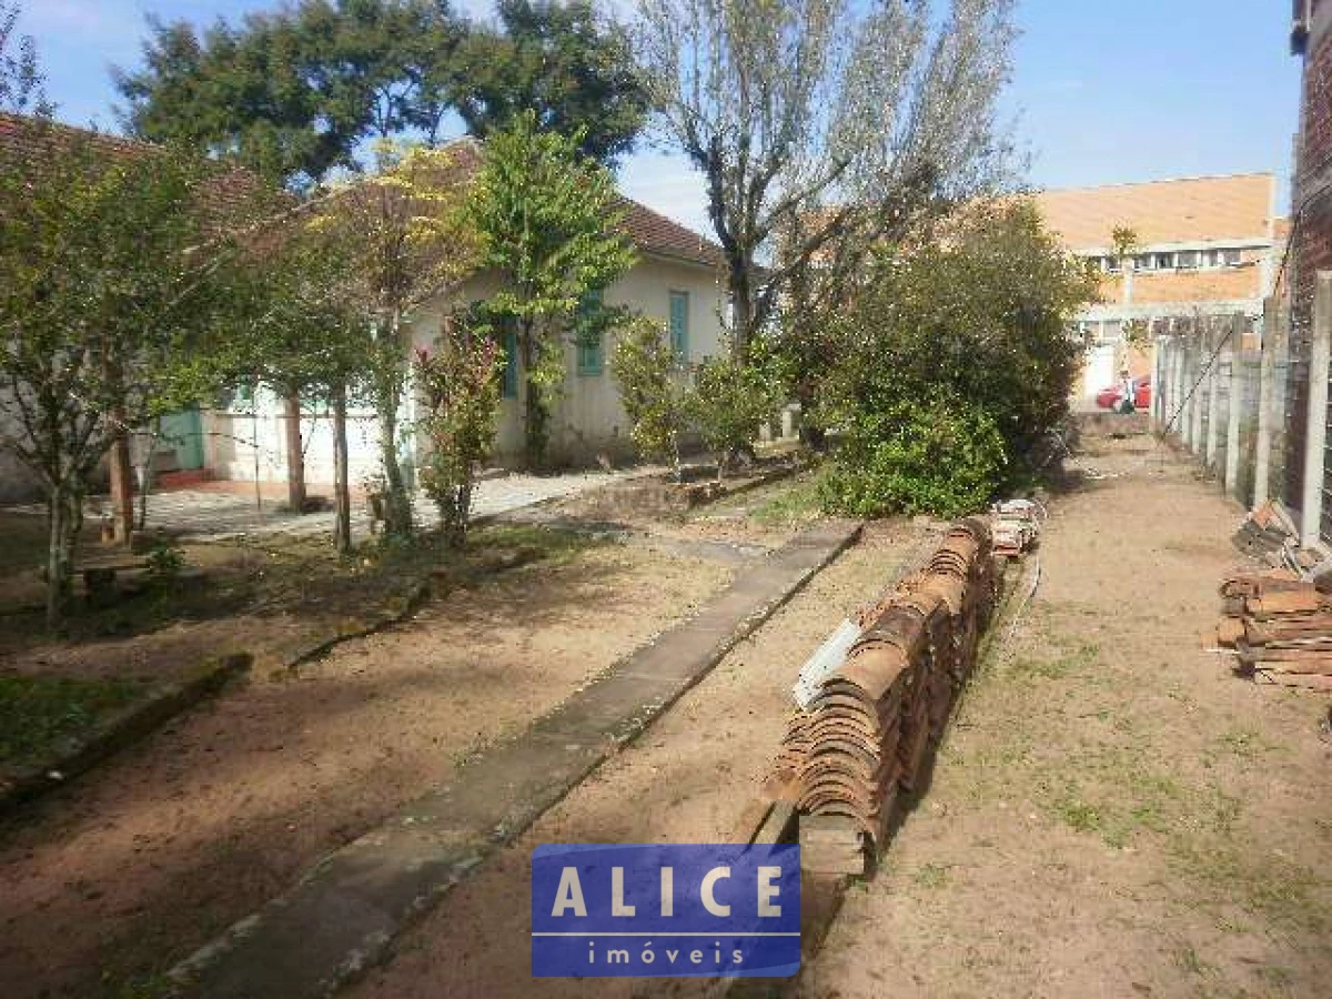
[[[460,140],[448,147],[458,168],[470,173],[480,165],[480,147]],[[602,289],[605,305],[619,305],[661,321],[681,358],[697,365],[722,350],[722,316],[726,293],[721,280],[721,249],[685,226],[629,198],[621,198],[625,234],[634,245],[638,261]],[[478,273],[461,285],[442,289],[410,316],[412,349],[430,348],[440,336],[444,316],[457,304],[488,298],[498,286],[498,276]],[[515,466],[522,460],[523,377],[511,336],[502,344],[507,356],[503,372],[500,426],[493,460]],[[563,392],[554,404],[550,422],[550,457],[555,464],[586,465],[598,457],[619,458],[631,452],[629,425],[619,392],[610,374],[613,344],[565,342]],[[302,421],[306,480],[333,480],[333,445],[324,406],[306,401]],[[410,426],[414,400],[402,413]],[[369,410],[349,414],[348,457],[354,481],[373,474],[378,466],[377,425]],[[225,410],[205,414],[206,466],[218,478],[281,481],[286,478],[282,408],[272,394],[258,398],[237,396]],[[258,449],[250,446],[258,442]],[[409,437],[404,442],[409,466],[421,456],[424,442]],[[256,461],[257,458],[257,461]]]

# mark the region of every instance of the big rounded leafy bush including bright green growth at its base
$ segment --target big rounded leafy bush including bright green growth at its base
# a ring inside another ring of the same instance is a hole
[[[996,489],[1067,413],[1083,353],[1068,324],[1095,297],[1095,277],[1027,201],[978,204],[942,230],[883,248],[856,294],[827,316],[835,360],[817,397],[821,422],[840,430],[839,505],[898,497],[915,507],[934,496],[935,513],[955,513],[982,481]],[[926,476],[942,449],[966,462],[958,492]]]

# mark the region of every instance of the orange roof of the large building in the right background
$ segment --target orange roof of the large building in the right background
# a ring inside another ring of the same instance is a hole
[[[1185,177],[1146,184],[1043,190],[1036,205],[1064,246],[1107,249],[1118,226],[1142,246],[1212,240],[1265,240],[1276,181],[1271,173]]]

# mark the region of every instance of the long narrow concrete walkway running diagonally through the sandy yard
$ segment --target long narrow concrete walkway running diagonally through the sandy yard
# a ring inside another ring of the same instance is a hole
[[[316,864],[172,972],[178,995],[306,999],[376,963],[390,940],[634,739],[859,534],[823,521],[457,779]]]

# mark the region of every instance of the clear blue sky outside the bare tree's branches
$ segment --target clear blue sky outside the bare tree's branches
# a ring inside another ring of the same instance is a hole
[[[278,0],[21,0],[59,116],[116,124],[108,68],[133,65],[144,16],[236,19]],[[478,15],[489,0],[460,5]],[[1023,36],[1006,97],[1036,186],[1271,170],[1287,200],[1299,63],[1287,0],[1019,0]],[[625,192],[707,229],[702,185],[645,151]]]

